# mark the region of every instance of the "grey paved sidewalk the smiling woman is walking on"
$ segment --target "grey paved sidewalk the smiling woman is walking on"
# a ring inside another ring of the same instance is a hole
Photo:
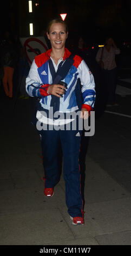
[[[12,113],[12,102],[1,99],[0,245],[131,245],[130,180],[125,176],[122,184],[117,179],[123,168],[130,175],[130,141],[121,137],[120,143],[110,128],[110,114],[96,120],[86,158],[85,224],[74,226],[63,175],[54,196],[43,195],[41,147],[31,125],[31,104],[18,100]]]

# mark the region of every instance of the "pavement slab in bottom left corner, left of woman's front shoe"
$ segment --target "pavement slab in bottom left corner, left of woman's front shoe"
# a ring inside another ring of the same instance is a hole
[[[55,218],[54,218],[55,216]],[[58,209],[0,216],[0,245],[44,245],[74,239]]]

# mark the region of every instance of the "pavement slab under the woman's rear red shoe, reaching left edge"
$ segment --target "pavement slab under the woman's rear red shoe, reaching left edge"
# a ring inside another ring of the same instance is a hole
[[[61,206],[67,212],[65,193],[60,185],[56,185],[55,194],[47,198],[43,193],[43,184],[37,187],[14,189],[2,191],[0,194],[1,209],[0,215],[11,213],[33,212],[37,210],[49,210]]]

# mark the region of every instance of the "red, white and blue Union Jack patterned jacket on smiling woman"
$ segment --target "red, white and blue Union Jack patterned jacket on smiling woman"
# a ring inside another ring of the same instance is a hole
[[[41,97],[40,104],[44,109],[49,109],[51,102],[51,95],[47,93],[48,87],[53,81],[48,64],[50,53],[51,49],[35,57],[26,79],[27,93],[32,97]],[[66,48],[62,61],[68,58],[70,54],[71,53]],[[80,78],[82,85],[82,107],[86,108],[88,111],[94,107],[94,77],[84,60],[80,56],[75,55],[74,63],[63,80],[63,82],[67,83],[67,92],[60,98],[60,112],[73,112],[78,109],[75,96],[75,87],[78,78]]]

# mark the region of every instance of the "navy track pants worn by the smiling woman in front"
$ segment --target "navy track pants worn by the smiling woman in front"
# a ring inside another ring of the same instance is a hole
[[[45,188],[54,187],[60,180],[58,151],[59,142],[61,142],[63,153],[63,172],[66,185],[66,204],[68,213],[72,217],[83,216],[81,174],[79,165],[81,133],[82,131],[78,130],[39,131],[41,137],[43,166],[45,170]],[[78,136],[79,134],[80,136]]]

